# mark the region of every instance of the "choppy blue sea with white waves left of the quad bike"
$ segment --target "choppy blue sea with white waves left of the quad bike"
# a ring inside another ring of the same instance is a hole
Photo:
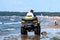
[[[21,22],[21,17],[0,16],[0,35],[20,33],[21,24],[18,22]]]

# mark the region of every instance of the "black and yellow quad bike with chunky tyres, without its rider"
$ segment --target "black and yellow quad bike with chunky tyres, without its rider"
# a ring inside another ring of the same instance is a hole
[[[36,35],[40,35],[40,23],[37,17],[27,16],[21,21],[21,34],[27,35],[27,32],[34,31]]]

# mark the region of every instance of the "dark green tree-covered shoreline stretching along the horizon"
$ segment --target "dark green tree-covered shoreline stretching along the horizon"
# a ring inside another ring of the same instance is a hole
[[[25,16],[27,12],[1,12],[0,16]],[[34,12],[36,15],[44,15],[44,16],[60,16],[60,12]]]

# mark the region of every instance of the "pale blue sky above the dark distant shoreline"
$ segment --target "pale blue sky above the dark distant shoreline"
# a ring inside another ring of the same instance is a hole
[[[60,12],[60,0],[0,0],[0,11]]]

